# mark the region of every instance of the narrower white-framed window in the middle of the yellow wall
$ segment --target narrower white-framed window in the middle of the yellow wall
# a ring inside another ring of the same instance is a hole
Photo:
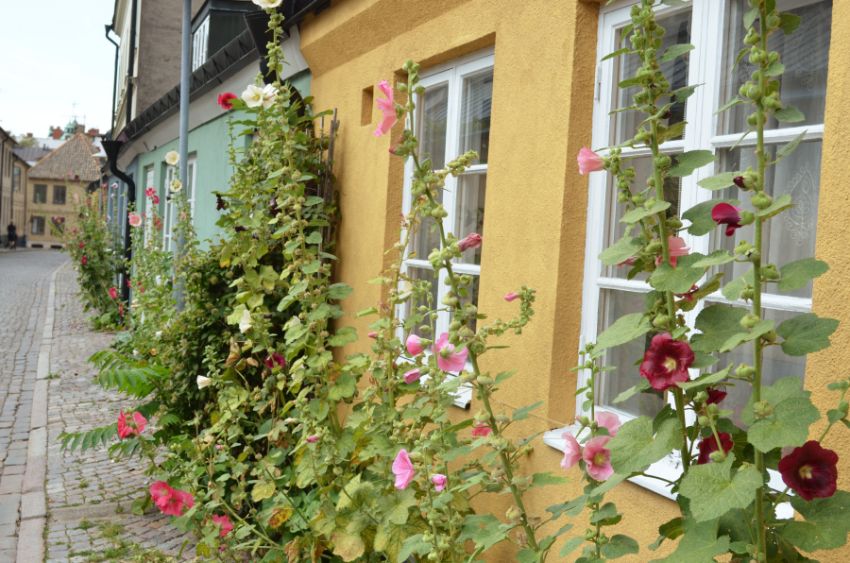
[[[423,73],[422,86],[425,92],[419,96],[415,119],[420,157],[430,159],[432,168],[438,170],[466,151],[478,152],[478,160],[463,175],[446,178],[442,192],[442,203],[448,212],[445,225],[458,238],[470,233],[483,235],[493,100],[493,55],[468,57],[450,66]],[[411,207],[412,175],[412,164],[408,163],[404,188],[405,212]],[[445,272],[437,279],[428,262],[429,252],[439,245],[439,235],[433,222],[424,221],[404,262],[412,278],[431,281],[434,303],[439,303],[440,297],[448,291]],[[470,296],[473,303],[478,301],[480,264],[481,249],[476,248],[464,252],[454,265],[456,272],[474,276]],[[402,316],[406,314],[407,310],[401,311]],[[435,334],[448,331],[448,313],[437,313],[437,317],[430,321]]]

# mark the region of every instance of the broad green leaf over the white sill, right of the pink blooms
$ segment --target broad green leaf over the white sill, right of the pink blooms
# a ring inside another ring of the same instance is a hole
[[[643,471],[681,445],[682,429],[678,420],[663,421],[654,434],[652,420],[646,416],[623,424],[608,442],[611,465],[614,471],[622,474]]]

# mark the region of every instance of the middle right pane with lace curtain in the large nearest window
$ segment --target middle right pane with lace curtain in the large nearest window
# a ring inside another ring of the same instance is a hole
[[[768,147],[768,158],[776,156],[779,145]],[[722,171],[745,170],[748,166],[756,168],[755,155],[751,148],[718,151]],[[775,167],[768,168],[766,187],[774,198],[790,194],[794,207],[772,218],[763,229],[763,252],[765,263],[773,263],[782,267],[788,262],[800,260],[815,254],[815,235],[817,231],[818,184],[820,180],[821,142],[807,141],[800,143],[791,155],[782,159]],[[719,196],[721,197],[721,196]],[[737,188],[728,190],[722,197],[741,198],[744,208],[749,208],[749,194],[740,192]],[[718,228],[712,231],[712,247],[725,248],[732,251],[742,240],[752,242],[753,227],[748,225],[735,231],[735,235],[727,237]],[[727,264],[723,266],[726,273],[724,281],[730,282],[743,275],[750,269],[749,264]],[[768,292],[778,293],[776,284],[767,285]],[[794,297],[811,297],[812,284],[795,291],[784,291],[783,295]]]

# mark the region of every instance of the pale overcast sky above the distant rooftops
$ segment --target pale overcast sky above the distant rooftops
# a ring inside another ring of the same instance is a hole
[[[103,26],[114,0],[0,4],[0,127],[46,137],[76,115],[109,129],[115,48]]]

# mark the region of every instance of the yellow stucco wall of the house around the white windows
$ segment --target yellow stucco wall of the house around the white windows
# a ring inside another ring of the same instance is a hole
[[[850,366],[850,189],[842,181],[848,166],[839,141],[843,133],[850,136],[850,123],[840,121],[850,112],[850,3],[836,2],[833,10],[818,227],[818,257],[833,269],[816,284],[815,309],[845,325],[834,338],[836,346],[812,357],[807,370],[807,385],[823,407],[832,405],[821,391],[824,381],[846,376]],[[339,278],[355,288],[346,301],[349,312],[380,299],[378,286],[367,282],[385,264],[382,249],[397,240],[401,211],[401,163],[387,153],[390,138],[372,137],[378,112],[372,123],[361,124],[362,90],[399,73],[408,58],[425,70],[494,48],[479,306],[491,317],[507,317],[513,306],[501,299],[505,292],[520,285],[538,290],[530,327],[522,337],[507,339],[509,350],[485,357],[485,368],[517,370],[498,396],[503,408],[545,401],[538,416],[519,429],[524,433],[564,425],[575,414],[575,376],[569,370],[580,333],[587,209],[587,182],[575,155],[591,141],[597,14],[597,3],[571,0],[340,0],[301,29],[316,107],[337,108],[341,121],[335,155],[343,216]],[[368,330],[368,320],[347,322],[361,334]],[[850,436],[829,444],[850,460]],[[558,472],[559,460],[541,442],[527,469]],[[850,464],[843,462],[841,469],[846,476]],[[532,510],[542,513],[557,500],[578,496],[575,471],[572,484],[533,493]],[[841,484],[847,488],[850,480],[842,478]],[[675,506],[632,484],[618,487],[610,499],[626,515],[622,529],[644,546],[633,560],[663,555],[664,550],[650,555],[645,546],[657,536],[657,526],[676,514]],[[503,512],[492,498],[487,502],[495,513]],[[577,524],[583,532],[584,520]],[[821,559],[848,560],[850,550]],[[511,557],[503,552],[492,560]]]

